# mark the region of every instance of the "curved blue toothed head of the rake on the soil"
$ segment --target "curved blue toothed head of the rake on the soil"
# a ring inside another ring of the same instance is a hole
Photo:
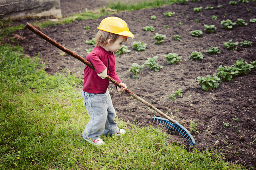
[[[170,122],[168,119],[166,118],[161,118],[161,117],[154,117],[153,122],[156,120],[156,123],[162,123],[164,125],[166,125],[166,128],[170,128],[171,130],[178,130],[177,132],[179,132],[179,134],[181,134],[181,137],[187,139],[190,143],[190,146],[196,144],[193,136],[190,134],[190,132],[184,128],[183,125],[179,124],[177,121],[175,121],[175,123]]]

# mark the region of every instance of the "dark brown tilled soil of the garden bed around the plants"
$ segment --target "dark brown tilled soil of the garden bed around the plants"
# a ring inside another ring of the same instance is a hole
[[[129,90],[152,103],[164,113],[174,116],[175,120],[188,129],[190,129],[188,122],[198,123],[198,132],[192,132],[196,141],[194,148],[200,151],[216,151],[217,149],[226,160],[242,162],[247,168],[254,167],[256,165],[256,71],[252,70],[247,75],[220,83],[219,88],[214,91],[204,91],[198,85],[196,77],[205,77],[207,74],[213,75],[213,73],[217,73],[216,69],[220,65],[231,66],[237,60],[244,59],[248,63],[256,60],[256,41],[254,38],[256,37],[256,23],[249,22],[251,18],[256,18],[256,2],[249,1],[247,4],[238,2],[238,5],[235,6],[229,5],[229,0],[219,1],[218,4],[215,2],[215,0],[200,1],[199,3],[189,1],[186,5],[178,3],[113,15],[126,21],[130,31],[135,36],[134,39],[128,38],[124,44],[132,52],[116,56],[116,71],[121,80],[127,84]],[[100,6],[99,4],[101,1],[96,1],[90,6],[97,8]],[[63,10],[65,16],[70,15],[68,14],[68,7],[72,11],[72,5],[73,1],[66,1],[66,9]],[[218,8],[217,5],[222,5],[222,8]],[[61,6],[63,7],[63,4]],[[203,7],[202,12],[193,12],[194,7],[200,6]],[[213,6],[214,8],[205,10],[206,6]],[[252,12],[248,12],[249,9]],[[172,17],[163,15],[163,13],[170,11],[175,12]],[[157,16],[157,19],[151,20],[151,15]],[[218,19],[211,19],[212,15],[216,15]],[[96,27],[105,17],[107,16],[96,20],[52,26],[41,29],[41,31],[66,48],[86,57],[85,49],[94,48],[94,46],[88,45],[85,40],[94,38],[97,32]],[[235,25],[231,30],[225,30],[220,25],[222,20],[230,19],[235,22],[238,18],[244,19],[248,25],[245,27]],[[140,21],[137,22],[136,19],[140,19]],[[196,23],[195,19],[200,22]],[[24,24],[25,22],[33,22],[33,19],[20,19],[17,22]],[[179,22],[182,22],[183,25],[179,26]],[[215,33],[207,34],[204,31],[204,24],[214,24],[217,27]],[[164,25],[168,25],[169,28],[163,28]],[[91,30],[85,30],[84,26],[89,26]],[[143,31],[145,26],[153,26],[155,31],[145,32]],[[189,34],[190,31],[197,29],[203,31],[200,38]],[[155,33],[166,35],[167,38],[161,45],[153,44]],[[65,68],[81,79],[84,76],[84,65],[77,59],[63,55],[61,50],[39,38],[30,30],[19,30],[17,34],[25,38],[18,42],[24,47],[25,54],[36,56],[39,53],[39,57],[45,63],[46,72],[55,74],[62,72]],[[183,41],[175,41],[173,35],[180,35]],[[223,47],[223,43],[230,39],[233,39],[233,42],[239,42],[237,52]],[[251,41],[253,46],[250,48],[241,47],[240,42],[244,40]],[[137,52],[134,50],[133,41],[147,43],[146,51]],[[211,46],[218,46],[221,53],[218,55],[205,53],[205,50]],[[190,53],[195,50],[204,55],[203,60],[188,59]],[[164,55],[168,53],[179,54],[183,61],[178,64],[167,64]],[[156,62],[164,67],[159,72],[145,67],[139,75],[139,79],[134,80],[132,73],[129,72],[131,64],[136,62],[141,65],[147,57],[155,55],[159,56]],[[183,89],[183,97],[177,98],[175,101],[168,100],[168,95],[174,94],[179,88]],[[109,91],[117,116],[120,119],[134,123],[138,127],[148,125],[157,127],[157,124],[153,122],[153,117],[160,115],[130,95],[117,93],[112,84],[109,86]],[[237,123],[233,118],[238,118]],[[229,123],[229,126],[224,128],[224,123]],[[170,133],[169,142],[188,145],[184,138],[180,138],[176,133],[168,131],[166,128],[163,128],[163,131]],[[188,149],[190,148],[188,147]]]

